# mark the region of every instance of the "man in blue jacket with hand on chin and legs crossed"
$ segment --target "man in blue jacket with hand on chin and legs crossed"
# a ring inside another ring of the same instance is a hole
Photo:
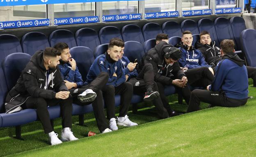
[[[105,118],[101,88],[107,83],[108,73],[101,72],[96,79],[86,85],[82,80],[82,75],[76,66],[75,60],[71,57],[69,46],[66,43],[59,42],[55,44],[54,48],[61,52],[61,60],[58,66],[64,82],[73,97],[73,103],[87,105],[92,102],[98,129],[103,133],[108,128],[108,125]]]

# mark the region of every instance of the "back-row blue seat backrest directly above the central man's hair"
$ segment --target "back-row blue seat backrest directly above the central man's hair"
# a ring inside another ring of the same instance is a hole
[[[98,33],[101,44],[109,44],[112,38],[123,39],[120,30],[114,26],[106,26],[101,28]]]

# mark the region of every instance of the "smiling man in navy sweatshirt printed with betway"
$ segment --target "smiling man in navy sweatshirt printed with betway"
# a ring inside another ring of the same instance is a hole
[[[214,79],[213,69],[207,64],[202,53],[194,49],[190,31],[184,31],[181,40],[182,42],[176,45],[181,50],[181,59],[178,62],[187,75],[188,84],[206,88]]]

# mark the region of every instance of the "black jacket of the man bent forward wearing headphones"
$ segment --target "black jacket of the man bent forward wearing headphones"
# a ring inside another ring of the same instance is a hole
[[[172,84],[172,80],[174,79],[181,79],[183,76],[186,76],[181,71],[178,62],[174,62],[174,64],[166,64],[165,62],[164,55],[167,52],[164,52],[163,50],[166,47],[172,46],[173,45],[164,41],[159,42],[142,57],[142,62],[139,64],[141,69],[143,65],[151,63],[153,65],[155,81],[166,85]]]

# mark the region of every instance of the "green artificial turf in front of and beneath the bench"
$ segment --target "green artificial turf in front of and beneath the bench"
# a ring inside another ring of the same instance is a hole
[[[251,83],[251,81],[250,81]],[[249,95],[256,97],[256,88],[249,87]],[[176,97],[169,98],[175,101]],[[39,122],[22,128],[25,141],[10,138],[13,128],[0,129],[0,155],[10,156],[87,156],[87,157],[254,157],[256,156],[256,99],[249,99],[237,108],[214,107],[158,120],[155,109],[142,108],[129,118],[139,126],[119,127],[107,134],[98,134],[93,114],[87,114],[85,126],[75,123],[73,133],[80,138],[58,146],[48,146],[47,136]],[[143,105],[143,104],[142,104]],[[148,105],[150,106],[150,105]],[[171,106],[185,111],[185,105]],[[204,104],[202,108],[207,106]],[[153,116],[152,116],[153,115]],[[55,131],[60,133],[60,119],[55,120]],[[86,137],[88,131],[97,135]],[[21,152],[21,153],[20,153]],[[18,154],[15,154],[18,153]]]

